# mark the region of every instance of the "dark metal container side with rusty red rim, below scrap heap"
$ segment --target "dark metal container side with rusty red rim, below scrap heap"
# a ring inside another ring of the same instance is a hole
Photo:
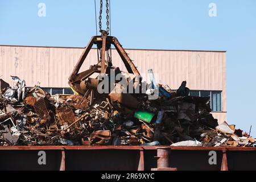
[[[1,146],[0,170],[135,170],[158,168],[159,147],[170,149],[170,169],[256,170],[253,147]],[[45,164],[39,164],[44,151]],[[215,162],[210,158],[215,155]],[[161,168],[160,168],[161,169]]]

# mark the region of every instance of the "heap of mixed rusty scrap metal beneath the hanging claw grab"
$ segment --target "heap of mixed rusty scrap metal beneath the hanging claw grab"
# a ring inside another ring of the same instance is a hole
[[[227,123],[217,124],[209,98],[188,96],[159,85],[159,97],[133,97],[125,106],[109,96],[55,95],[12,77],[0,94],[0,145],[170,145],[255,146],[255,140]],[[134,107],[135,106],[135,107]],[[134,108],[133,108],[134,107]]]

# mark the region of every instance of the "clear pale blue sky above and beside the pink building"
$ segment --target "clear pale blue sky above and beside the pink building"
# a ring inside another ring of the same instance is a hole
[[[40,2],[46,17],[38,16]],[[209,3],[216,3],[216,17],[208,15]],[[111,6],[112,35],[125,48],[226,50],[228,121],[246,131],[253,125],[256,137],[255,0],[111,0]],[[0,44],[84,47],[94,34],[94,0],[0,0]]]

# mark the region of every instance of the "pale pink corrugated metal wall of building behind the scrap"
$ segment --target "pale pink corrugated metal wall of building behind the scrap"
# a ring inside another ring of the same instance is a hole
[[[27,86],[38,81],[43,87],[68,87],[68,76],[83,48],[0,46],[0,76],[11,83],[10,75],[26,80]],[[169,51],[127,49],[145,80],[152,68],[156,80],[171,89],[187,80],[191,90],[222,90],[222,110],[214,113],[226,121],[226,53],[224,51]],[[113,65],[126,71],[118,53],[113,50]],[[97,63],[97,51],[92,49],[81,70]]]

